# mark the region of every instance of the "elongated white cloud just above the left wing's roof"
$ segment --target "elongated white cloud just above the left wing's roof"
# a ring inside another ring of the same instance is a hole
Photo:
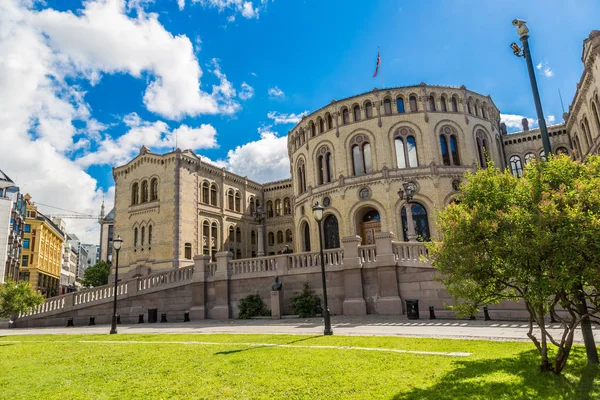
[[[202,124],[198,128],[181,125],[171,130],[163,121],[143,121],[136,113],[123,118],[129,130],[118,138],[107,136],[98,150],[77,159],[81,166],[121,165],[129,162],[146,145],[156,151],[181,149],[211,149],[217,147],[217,131],[214,127]]]

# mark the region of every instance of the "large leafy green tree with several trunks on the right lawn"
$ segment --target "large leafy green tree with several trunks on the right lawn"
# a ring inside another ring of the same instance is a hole
[[[452,308],[472,315],[483,305],[522,301],[541,369],[559,374],[575,329],[599,305],[600,157],[550,157],[529,164],[521,178],[492,166],[468,174],[457,200],[438,213],[439,241],[428,244],[457,298]],[[578,307],[581,295],[589,313]],[[560,337],[546,329],[548,314],[562,326]]]

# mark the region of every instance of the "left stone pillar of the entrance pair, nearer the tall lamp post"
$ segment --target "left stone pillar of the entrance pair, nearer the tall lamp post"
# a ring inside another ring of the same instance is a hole
[[[363,295],[362,264],[358,254],[360,236],[345,236],[342,238],[344,249],[344,315],[366,315],[367,305]]]

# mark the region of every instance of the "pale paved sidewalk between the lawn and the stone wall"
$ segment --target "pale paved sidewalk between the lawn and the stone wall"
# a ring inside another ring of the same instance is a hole
[[[529,341],[527,322],[524,321],[471,321],[471,320],[408,320],[406,316],[366,315],[362,317],[334,316],[331,318],[334,335],[347,336],[409,336],[449,339],[480,339],[500,341]],[[596,342],[600,342],[600,327],[592,325]],[[1,329],[0,336],[105,334],[108,325],[54,327],[34,329]],[[137,333],[238,333],[238,334],[293,334],[319,335],[323,333],[322,318],[285,318],[281,320],[203,320],[186,323],[156,323],[119,325],[119,334]],[[558,335],[559,324],[549,324],[549,331]],[[534,331],[535,332],[535,331]],[[557,336],[558,337],[558,336]],[[575,343],[583,343],[581,330],[575,334]]]

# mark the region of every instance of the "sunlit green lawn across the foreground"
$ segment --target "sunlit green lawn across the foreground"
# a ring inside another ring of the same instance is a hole
[[[307,346],[472,354],[449,357]],[[583,348],[575,348],[560,377],[540,374],[532,349],[529,343],[397,337],[0,337],[0,398],[600,398],[600,370],[586,368]]]

